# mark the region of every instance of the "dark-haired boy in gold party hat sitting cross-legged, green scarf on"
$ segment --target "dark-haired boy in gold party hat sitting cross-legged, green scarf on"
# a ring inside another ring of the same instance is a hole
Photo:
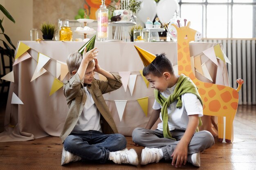
[[[146,128],[135,128],[132,140],[145,146],[141,152],[141,165],[172,160],[181,167],[186,162],[200,166],[200,152],[214,144],[208,131],[196,132],[203,116],[202,99],[189,77],[176,76],[165,54],[157,55],[135,46],[144,63],[143,75],[155,88],[153,113]],[[149,56],[149,57],[148,57]],[[150,59],[151,58],[151,59]],[[150,130],[160,117],[156,130]]]

